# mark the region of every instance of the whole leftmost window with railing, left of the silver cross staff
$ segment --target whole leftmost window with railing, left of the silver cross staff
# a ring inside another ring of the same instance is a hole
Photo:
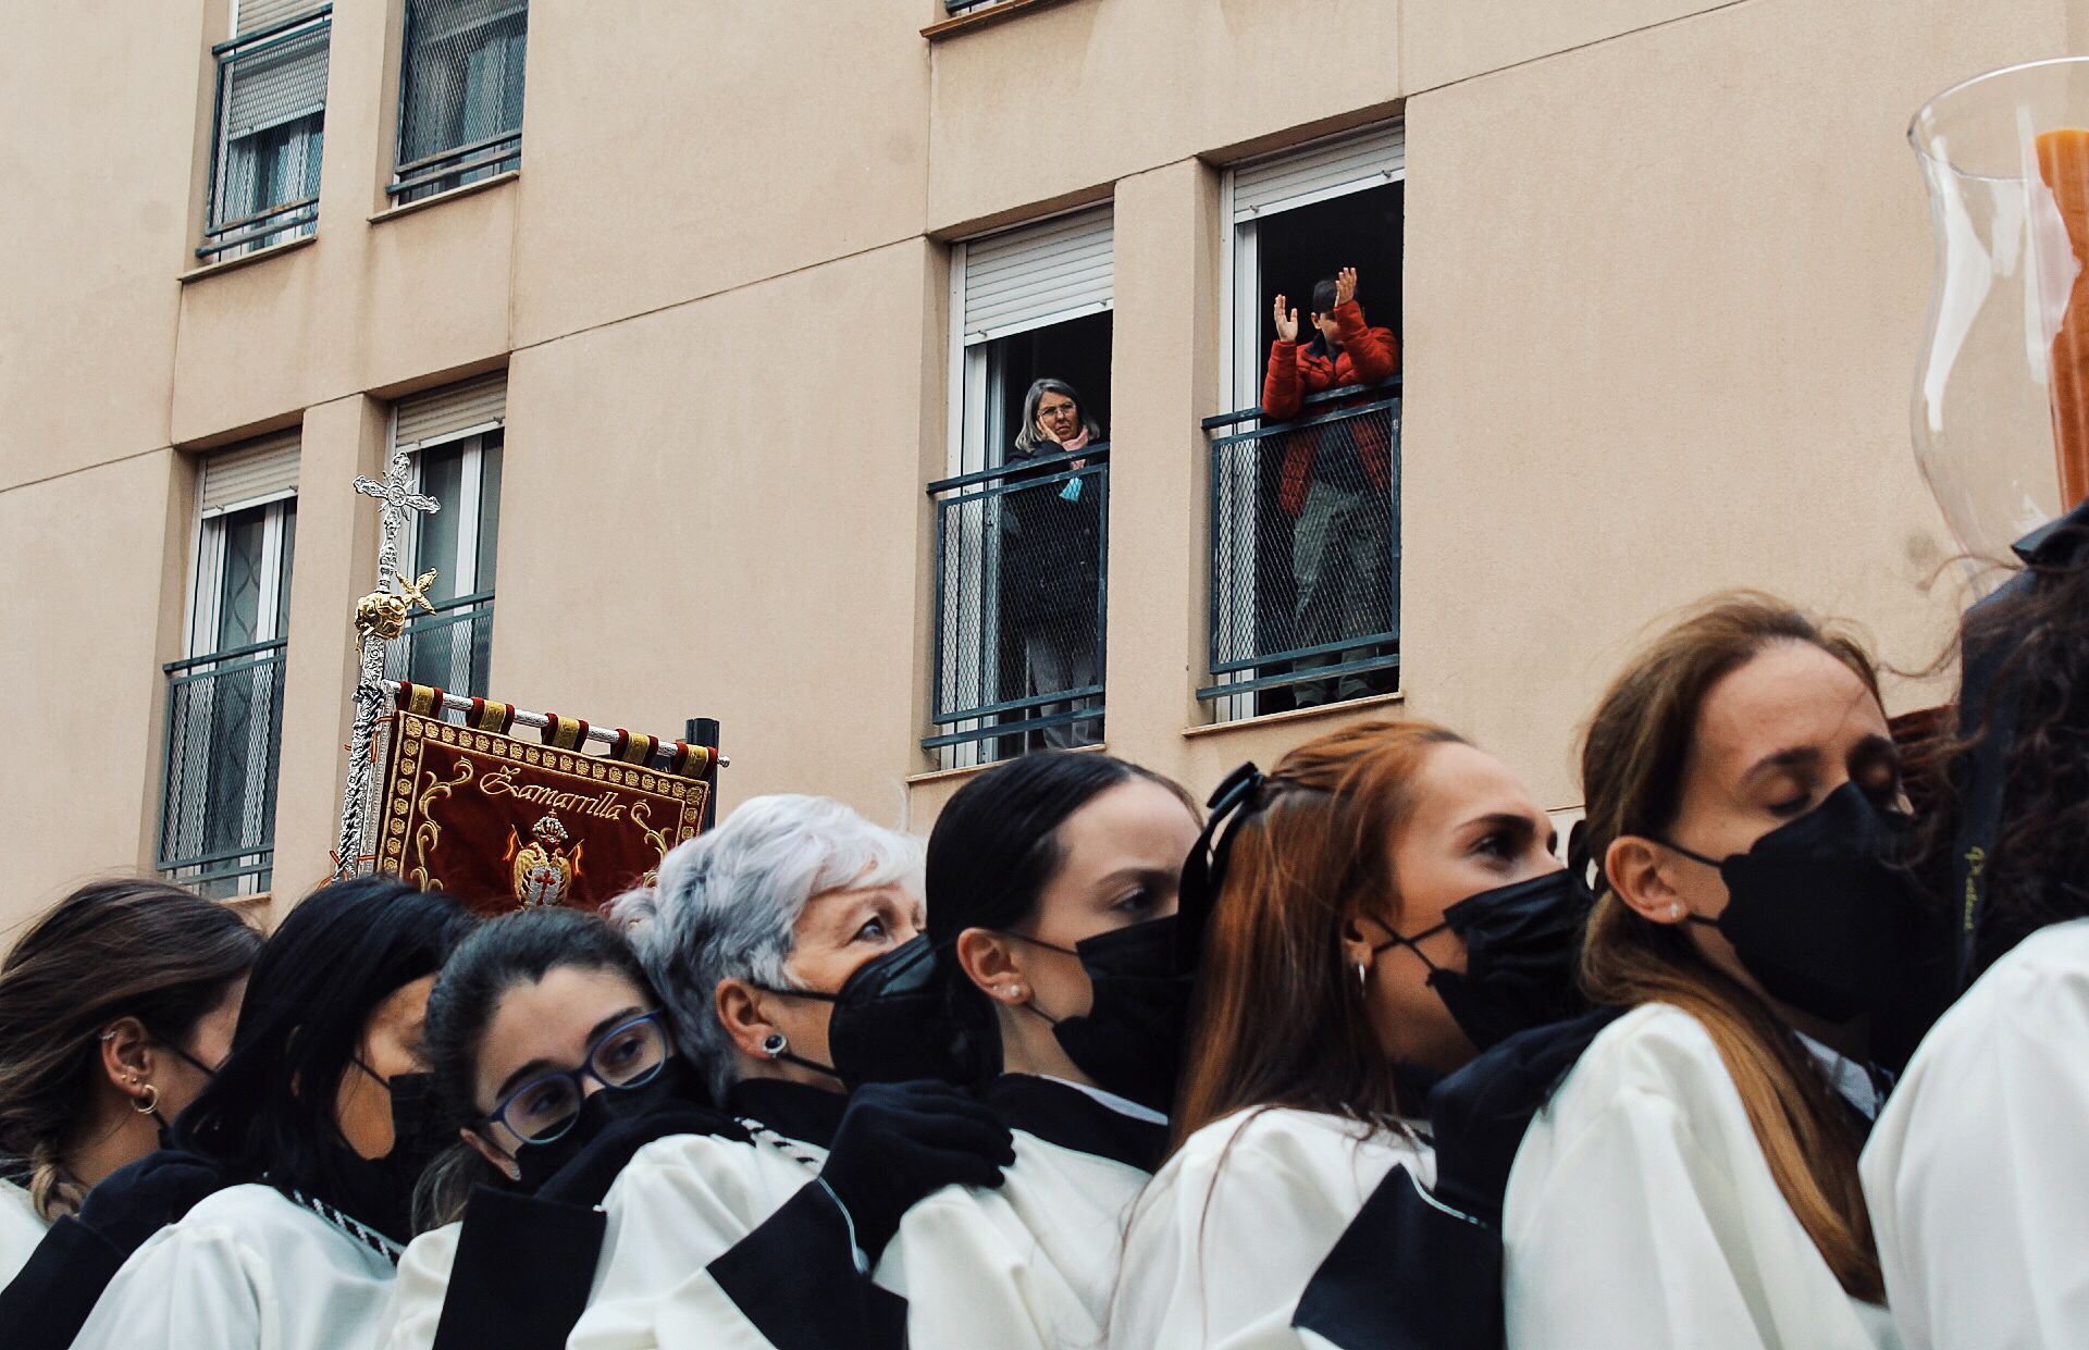
[[[205,460],[190,654],[165,667],[159,869],[213,897],[269,886],[295,539],[297,433]]]

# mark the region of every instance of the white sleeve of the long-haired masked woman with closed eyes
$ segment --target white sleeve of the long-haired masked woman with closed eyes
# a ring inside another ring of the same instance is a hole
[[[1621,1089],[1529,1181],[1535,1193],[1519,1193],[1510,1174],[1504,1233],[1517,1350],[1774,1346],[1726,1250],[1736,1235],[1719,1216],[1738,1208],[1730,1168],[1675,1101]]]

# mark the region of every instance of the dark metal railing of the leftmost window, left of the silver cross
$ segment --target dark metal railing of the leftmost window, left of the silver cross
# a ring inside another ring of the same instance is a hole
[[[205,894],[269,884],[284,648],[280,639],[259,642],[163,667],[159,869]]]

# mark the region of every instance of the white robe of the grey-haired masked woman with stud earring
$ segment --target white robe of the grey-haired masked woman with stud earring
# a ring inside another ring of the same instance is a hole
[[[767,1131],[754,1143],[675,1135],[641,1147],[602,1200],[595,1287],[568,1348],[660,1346],[675,1291],[804,1189],[825,1156]]]

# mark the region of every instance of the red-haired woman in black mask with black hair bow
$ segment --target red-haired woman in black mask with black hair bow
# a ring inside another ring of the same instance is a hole
[[[1109,1344],[1381,1344],[1318,1312],[1360,1294],[1331,1254],[1379,1193],[1433,1183],[1427,1085],[1563,1011],[1579,901],[1544,809],[1443,727],[1362,723],[1237,782],[1174,1151]],[[1414,1252],[1358,1231],[1368,1294]]]

